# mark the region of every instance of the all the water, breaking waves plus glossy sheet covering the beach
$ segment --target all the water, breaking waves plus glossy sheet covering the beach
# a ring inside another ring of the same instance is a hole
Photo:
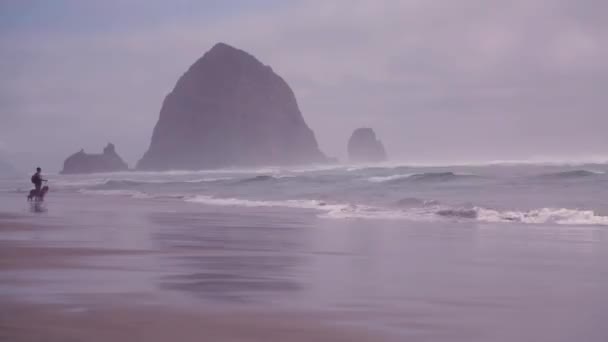
[[[0,240],[146,253],[87,257],[81,269],[0,269],[0,295],[82,306],[87,296],[137,293],[163,305],[331,312],[341,326],[396,340],[606,341],[607,171],[385,164],[46,175],[40,205],[25,201],[29,177],[4,179],[5,221],[54,228],[0,231]]]

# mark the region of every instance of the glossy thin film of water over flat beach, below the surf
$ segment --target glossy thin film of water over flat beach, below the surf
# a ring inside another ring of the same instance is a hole
[[[608,340],[603,226],[335,220],[72,193],[42,212],[21,194],[0,204],[14,216],[0,218],[3,246],[75,249],[56,265],[0,268],[2,296],[329,311],[428,341]]]

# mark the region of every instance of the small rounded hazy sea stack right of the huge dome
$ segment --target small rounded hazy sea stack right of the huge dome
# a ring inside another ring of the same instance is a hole
[[[358,128],[348,141],[348,159],[354,163],[377,163],[386,160],[382,142],[371,128]]]

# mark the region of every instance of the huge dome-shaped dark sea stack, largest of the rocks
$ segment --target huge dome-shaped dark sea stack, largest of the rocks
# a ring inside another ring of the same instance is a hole
[[[289,85],[250,54],[218,43],[165,98],[141,170],[325,162]]]

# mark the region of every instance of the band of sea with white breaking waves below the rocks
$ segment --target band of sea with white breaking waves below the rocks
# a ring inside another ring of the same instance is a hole
[[[207,206],[303,210],[323,219],[608,226],[605,164],[324,165],[50,175],[52,190]],[[25,192],[23,180],[0,191]]]

